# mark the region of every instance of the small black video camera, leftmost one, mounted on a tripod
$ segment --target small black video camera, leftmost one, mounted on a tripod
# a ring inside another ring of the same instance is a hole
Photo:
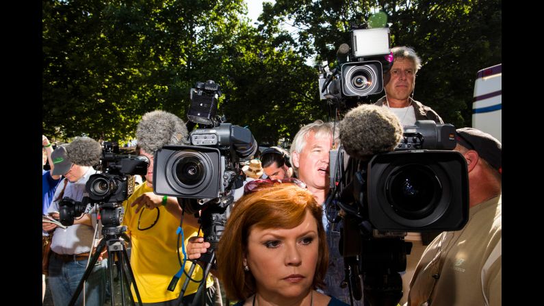
[[[64,198],[59,202],[60,222],[73,225],[74,219],[86,211],[88,204],[101,205],[104,226],[118,226],[122,222],[122,202],[134,192],[133,175],[146,175],[149,160],[144,155],[131,157],[113,153],[111,142],[104,142],[99,168],[102,173],[91,175],[85,185],[86,196],[81,202]]]

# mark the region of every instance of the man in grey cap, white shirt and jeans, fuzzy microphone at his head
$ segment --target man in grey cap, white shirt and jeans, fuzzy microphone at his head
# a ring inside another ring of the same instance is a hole
[[[64,175],[48,209],[53,218],[59,218],[62,201],[81,201],[89,177],[95,173],[93,165],[98,164],[102,153],[101,145],[88,137],[75,138],[70,144],[60,146],[51,154],[54,168],[52,175]],[[53,231],[49,259],[49,286],[55,305],[68,305],[79,281],[86,270],[88,257],[94,242],[96,217],[87,207],[88,213],[75,218],[74,224],[62,229],[49,222],[42,222],[44,231]],[[85,286],[86,305],[103,305],[105,300],[105,270],[107,262],[99,260]],[[80,295],[76,305],[82,304]]]

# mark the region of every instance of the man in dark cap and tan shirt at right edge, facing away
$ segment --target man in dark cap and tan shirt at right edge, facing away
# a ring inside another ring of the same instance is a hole
[[[469,221],[427,246],[407,305],[501,305],[502,144],[478,129],[457,129],[454,149],[469,175]]]

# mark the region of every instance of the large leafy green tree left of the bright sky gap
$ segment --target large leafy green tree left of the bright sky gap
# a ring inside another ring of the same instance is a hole
[[[190,88],[207,79],[222,87],[218,114],[259,142],[324,118],[313,69],[245,12],[242,0],[44,1],[44,133],[133,138],[150,110],[185,119]]]

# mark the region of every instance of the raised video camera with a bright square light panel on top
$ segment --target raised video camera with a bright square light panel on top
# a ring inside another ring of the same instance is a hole
[[[351,47],[341,44],[337,51],[339,67],[329,71],[326,61],[320,66],[321,99],[359,101],[382,92],[383,72],[391,66],[385,58],[390,53],[389,28],[354,27],[351,40]]]

